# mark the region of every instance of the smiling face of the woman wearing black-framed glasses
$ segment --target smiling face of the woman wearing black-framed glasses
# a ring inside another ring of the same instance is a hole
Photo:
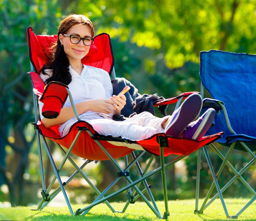
[[[93,37],[91,36],[91,29],[88,25],[79,24],[71,27],[66,35],[76,35],[81,38],[84,37]],[[81,59],[87,55],[90,50],[90,46],[86,46],[83,43],[83,40],[79,41],[78,44],[73,44],[70,42],[70,38],[68,36],[60,35],[60,42],[63,45],[64,52],[67,55],[69,65],[73,63],[81,62]]]

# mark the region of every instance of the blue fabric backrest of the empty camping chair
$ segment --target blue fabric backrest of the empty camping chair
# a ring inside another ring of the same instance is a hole
[[[203,86],[214,99],[225,103],[230,124],[237,134],[256,137],[256,55],[210,50],[200,53]],[[215,119],[209,134],[229,132],[223,112]]]

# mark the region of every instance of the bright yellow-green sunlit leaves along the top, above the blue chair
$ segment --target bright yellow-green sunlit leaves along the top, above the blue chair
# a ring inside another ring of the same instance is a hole
[[[115,27],[109,29],[114,36],[140,47],[162,48],[169,67],[198,62],[201,50],[255,51],[255,1],[101,0],[93,4],[100,9],[104,5],[100,27]],[[97,14],[93,10],[93,18]]]

